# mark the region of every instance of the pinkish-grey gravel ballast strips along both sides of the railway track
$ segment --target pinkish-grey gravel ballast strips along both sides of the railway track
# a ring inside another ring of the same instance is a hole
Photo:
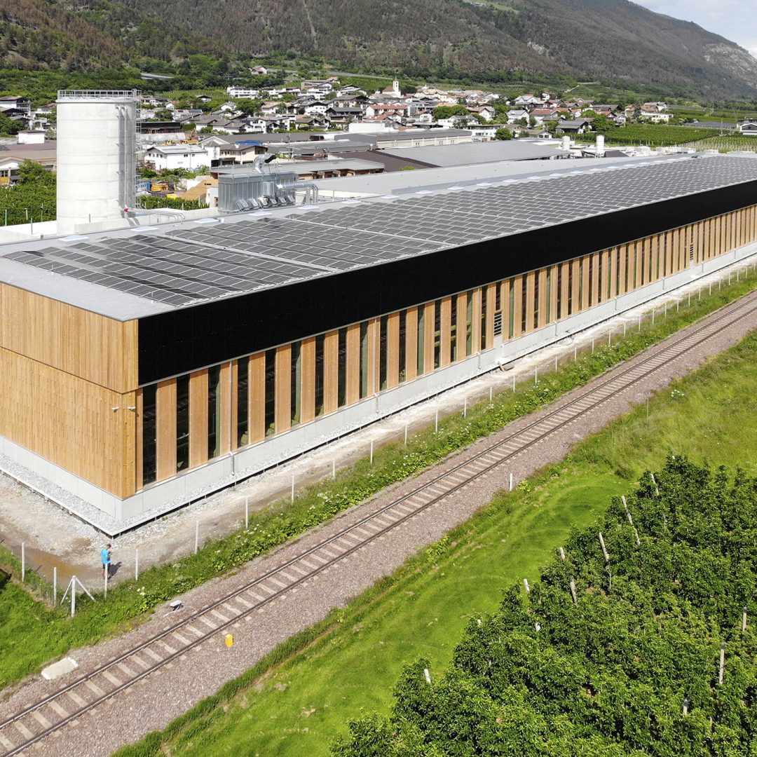
[[[274,600],[254,612],[253,615],[239,621],[232,631],[235,644],[231,649],[227,649],[224,645],[223,634],[211,637],[179,661],[165,666],[114,699],[104,702],[92,712],[83,715],[52,737],[39,743],[36,748],[28,749],[27,753],[55,755],[55,757],[109,755],[115,749],[139,740],[149,731],[165,727],[173,718],[217,691],[226,681],[250,668],[261,656],[273,650],[292,634],[325,617],[333,607],[344,606],[348,600],[366,587],[397,569],[408,556],[440,539],[450,528],[465,522],[477,509],[488,503],[499,489],[506,486],[510,472],[513,478],[519,481],[547,464],[556,463],[571,450],[577,441],[599,431],[610,420],[625,413],[632,405],[643,402],[653,392],[665,388],[674,378],[686,375],[701,365],[707,357],[736,344],[755,328],[757,328],[757,315],[752,314],[728,329],[727,332],[716,335],[693,352],[687,353],[674,363],[668,364],[652,376],[637,383],[627,392],[616,394],[599,408],[581,416],[550,438],[530,447],[524,453],[511,459],[506,469],[503,466],[503,469],[495,469],[478,478],[463,490],[447,497],[439,505],[401,525],[388,536],[362,547],[344,561],[310,578],[300,587],[292,590],[290,594]],[[680,335],[674,335],[671,340],[679,337]],[[646,355],[661,350],[665,344],[663,342],[650,348],[643,356],[638,356],[631,363],[636,363]],[[618,366],[600,380],[603,381],[609,375],[627,367],[628,364]],[[348,522],[360,519],[368,509],[382,506],[393,500],[397,494],[416,488],[419,481],[434,478],[441,470],[459,463],[482,447],[488,446],[493,439],[512,435],[513,432],[528,425],[537,417],[569,402],[579,391],[581,390],[565,395],[553,403],[549,410],[513,422],[493,438],[478,441],[469,450],[435,466],[435,469],[424,472],[418,478],[397,484],[389,491],[375,497],[370,503],[350,509],[322,528],[286,544],[276,553],[251,562],[237,574],[209,581],[198,587],[183,598],[185,609],[172,613],[167,606],[160,606],[154,616],[135,631],[98,643],[93,647],[75,650],[71,656],[79,662],[78,671],[53,683],[43,681],[39,676],[32,676],[14,687],[14,690],[6,690],[5,701],[0,704],[0,719],[57,690],[61,684],[113,658],[139,641],[147,639],[156,631],[173,625],[172,621],[179,621],[182,613],[191,612],[193,608],[204,606],[221,593],[227,593],[235,587],[247,584],[266,570],[316,544],[324,535],[339,531]]]

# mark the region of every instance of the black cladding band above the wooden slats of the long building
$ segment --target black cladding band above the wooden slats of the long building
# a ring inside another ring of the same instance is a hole
[[[757,181],[744,182],[141,318],[139,383],[233,360],[754,204]]]

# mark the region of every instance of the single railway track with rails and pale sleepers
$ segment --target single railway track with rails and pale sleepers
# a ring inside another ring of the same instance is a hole
[[[604,380],[592,382],[568,402],[525,428],[484,447],[441,475],[371,512],[337,534],[269,570],[245,586],[193,612],[115,659],[79,676],[32,706],[0,722],[0,757],[20,755],[83,713],[117,696],[164,665],[221,634],[282,594],[298,587],[370,542],[391,533],[444,497],[494,471],[513,456],[549,438],[585,413],[627,391],[703,342],[757,312],[757,291],[727,305],[698,326]]]

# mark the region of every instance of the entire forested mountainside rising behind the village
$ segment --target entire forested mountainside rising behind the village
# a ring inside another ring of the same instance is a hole
[[[628,0],[0,0],[0,67],[276,51],[414,79],[502,83],[516,70],[757,97],[746,50]]]

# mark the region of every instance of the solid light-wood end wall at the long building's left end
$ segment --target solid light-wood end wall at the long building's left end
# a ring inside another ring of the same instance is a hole
[[[0,435],[117,497],[134,494],[136,321],[0,284],[0,375]]]

